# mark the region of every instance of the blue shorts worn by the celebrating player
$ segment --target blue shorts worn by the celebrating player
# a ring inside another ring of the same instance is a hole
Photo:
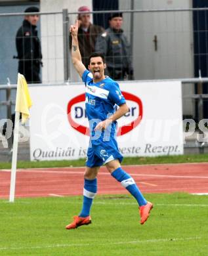
[[[91,143],[90,143],[91,144]],[[87,150],[87,167],[102,166],[112,160],[123,160],[123,156],[119,153],[117,141],[114,137],[110,141],[96,140]]]

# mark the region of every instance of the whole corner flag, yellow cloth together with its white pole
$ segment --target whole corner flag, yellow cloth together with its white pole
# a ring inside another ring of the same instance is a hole
[[[29,108],[32,102],[28,91],[28,84],[24,75],[18,74],[17,89],[16,89],[16,105],[15,105],[15,121],[14,121],[14,142],[12,151],[12,169],[10,177],[10,194],[9,202],[14,202],[14,191],[16,184],[16,160],[18,150],[18,137],[20,127],[20,113],[22,113],[22,123],[30,117]]]

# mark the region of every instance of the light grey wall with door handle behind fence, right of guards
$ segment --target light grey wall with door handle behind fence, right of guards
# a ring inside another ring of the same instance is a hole
[[[134,1],[137,10],[184,9],[191,0]],[[119,9],[130,9],[131,1],[120,0]],[[125,14],[123,28],[130,30],[130,15]],[[172,79],[194,77],[192,12],[138,12],[133,24],[133,66],[136,79]],[[157,36],[155,51],[154,36]],[[194,85],[183,85],[182,95],[194,94]],[[194,114],[192,100],[184,100],[183,113]]]

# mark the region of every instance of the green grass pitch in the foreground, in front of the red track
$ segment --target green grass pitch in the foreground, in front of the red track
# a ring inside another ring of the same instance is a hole
[[[131,196],[96,196],[93,223],[65,226],[82,197],[0,200],[0,255],[208,255],[207,196],[146,194],[154,203],[139,224]]]

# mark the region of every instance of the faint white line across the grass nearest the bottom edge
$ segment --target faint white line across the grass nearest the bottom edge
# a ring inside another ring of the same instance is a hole
[[[200,240],[201,237],[190,237],[190,238],[161,238],[161,239],[149,239],[149,240],[135,240],[135,241],[121,241],[121,242],[108,242],[94,245],[121,245],[121,244],[146,244],[146,243],[159,243],[159,242],[177,242],[177,241],[190,241]],[[84,247],[92,246],[92,243],[85,244],[51,244],[51,245],[39,245],[39,246],[22,246],[22,247],[0,247],[0,250],[16,250],[16,249],[44,249],[44,248],[56,248],[56,247]]]

